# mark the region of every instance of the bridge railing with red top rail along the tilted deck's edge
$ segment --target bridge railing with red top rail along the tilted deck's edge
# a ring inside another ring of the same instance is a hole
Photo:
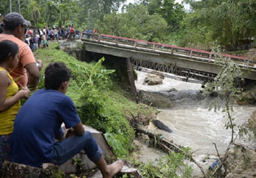
[[[129,49],[138,49],[138,50],[147,50],[150,52],[167,52],[171,54],[178,54],[178,55],[186,55],[189,56],[190,59],[196,60],[206,60],[208,62],[213,62],[213,58],[215,53],[204,51],[200,49],[192,49],[186,47],[179,47],[173,46],[170,44],[162,44],[162,43],[154,43],[154,42],[147,42],[144,40],[138,39],[131,39],[125,37],[118,37],[109,34],[93,34],[93,33],[81,33],[81,39],[84,39],[84,35],[90,36],[92,40],[95,40],[99,43],[109,43],[115,46],[129,48]],[[247,57],[240,57],[240,56],[232,56],[223,54],[228,60],[236,60],[237,62],[241,63],[241,66],[248,68],[249,66],[254,65],[254,61],[249,60]]]

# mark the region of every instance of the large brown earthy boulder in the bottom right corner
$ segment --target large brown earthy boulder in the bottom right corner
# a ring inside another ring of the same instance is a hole
[[[255,178],[256,151],[246,146],[232,145],[227,154],[226,178]]]

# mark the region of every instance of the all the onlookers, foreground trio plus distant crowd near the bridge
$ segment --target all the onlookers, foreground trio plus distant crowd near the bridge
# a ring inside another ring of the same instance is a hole
[[[73,101],[65,95],[71,73],[64,63],[50,63],[45,69],[45,89],[29,96],[30,89],[37,87],[43,64],[35,60],[32,44],[24,42],[24,34],[30,35],[30,41],[31,36],[33,39],[38,33],[45,41],[51,38],[51,29],[45,29],[50,33],[31,30],[30,22],[19,13],[7,14],[3,23],[4,31],[0,34],[0,177],[4,160],[33,167],[46,162],[61,165],[82,149],[104,178],[113,177],[124,162],[107,165],[92,134],[84,130]],[[55,29],[52,30],[55,35],[53,31]],[[70,31],[60,34],[68,34],[68,38],[73,34]],[[22,98],[28,99],[21,107]],[[62,123],[69,129],[69,135]]]

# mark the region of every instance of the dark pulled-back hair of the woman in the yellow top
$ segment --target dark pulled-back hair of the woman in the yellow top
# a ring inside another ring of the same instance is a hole
[[[0,42],[0,63],[5,62],[7,60],[7,57],[9,57],[9,53],[12,53],[12,56],[14,56],[19,53],[19,47],[16,43],[10,41],[10,40],[3,40]]]

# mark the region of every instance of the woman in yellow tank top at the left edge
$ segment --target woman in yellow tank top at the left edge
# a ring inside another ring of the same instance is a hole
[[[18,39],[17,39],[18,40]],[[18,89],[8,69],[17,66],[19,47],[9,40],[0,42],[0,177],[4,160],[9,160],[9,141],[14,118],[20,109],[20,99],[29,96],[29,89]]]

